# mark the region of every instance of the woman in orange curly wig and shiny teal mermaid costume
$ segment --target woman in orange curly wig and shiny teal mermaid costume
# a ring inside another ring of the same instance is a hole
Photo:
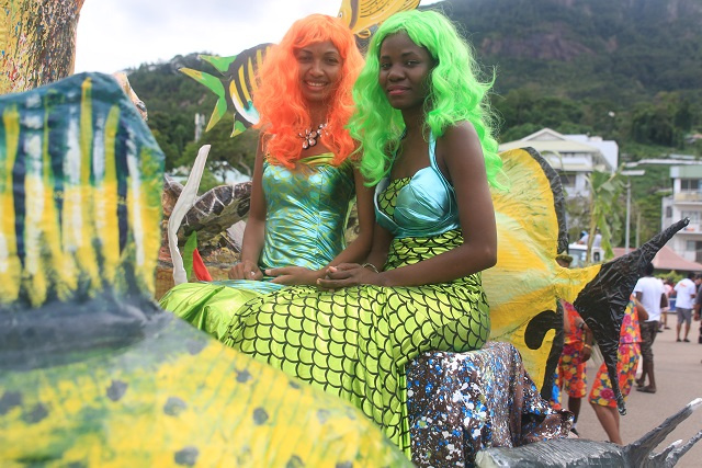
[[[260,139],[241,261],[229,272],[234,281],[178,285],[161,307],[220,339],[249,299],[286,285],[314,285],[328,266],[365,259],[373,195],[344,128],[362,66],[348,26],[322,14],[298,20],[270,49],[253,95]],[[344,249],[354,194],[360,232]]]

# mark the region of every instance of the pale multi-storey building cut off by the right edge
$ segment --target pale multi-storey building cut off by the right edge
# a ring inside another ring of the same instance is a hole
[[[661,226],[682,218],[690,218],[690,224],[668,246],[683,259],[702,263],[702,165],[673,165],[670,179],[672,195],[661,199]]]

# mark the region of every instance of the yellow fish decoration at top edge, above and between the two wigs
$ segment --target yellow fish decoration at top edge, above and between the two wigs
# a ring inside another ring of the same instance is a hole
[[[374,26],[400,11],[414,10],[420,0],[343,0],[339,8],[342,19],[359,38],[369,38]]]

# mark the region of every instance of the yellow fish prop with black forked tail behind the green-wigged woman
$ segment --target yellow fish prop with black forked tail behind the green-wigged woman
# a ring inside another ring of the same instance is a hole
[[[522,353],[537,386],[551,375],[555,330],[563,327],[557,298],[573,303],[600,345],[612,381],[616,377],[619,333],[629,297],[647,262],[678,230],[679,221],[642,248],[612,262],[564,269],[555,259],[567,246],[564,194],[557,172],[534,150],[500,155],[509,191],[492,191],[498,236],[497,264],[484,272],[490,304],[490,339]],[[613,377],[613,378],[612,378]],[[620,412],[624,401],[614,386]]]

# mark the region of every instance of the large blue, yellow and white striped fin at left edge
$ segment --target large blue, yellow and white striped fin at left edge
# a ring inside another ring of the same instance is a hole
[[[151,296],[163,155],[117,83],[77,75],[0,114],[0,307]]]

